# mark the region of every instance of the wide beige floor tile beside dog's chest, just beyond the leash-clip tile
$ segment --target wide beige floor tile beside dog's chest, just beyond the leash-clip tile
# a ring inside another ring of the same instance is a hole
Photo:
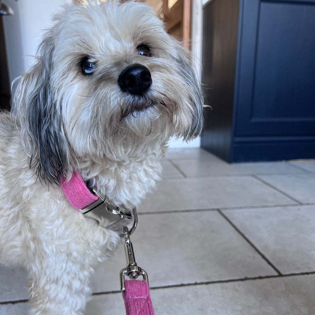
[[[314,194],[315,196],[315,194]],[[157,183],[139,212],[295,203],[250,176],[169,179]]]

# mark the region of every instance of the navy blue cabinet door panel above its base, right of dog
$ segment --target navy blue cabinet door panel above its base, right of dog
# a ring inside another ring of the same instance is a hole
[[[236,136],[315,135],[315,0],[244,0]]]

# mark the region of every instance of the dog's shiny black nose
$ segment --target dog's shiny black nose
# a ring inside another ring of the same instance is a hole
[[[152,83],[151,73],[147,67],[136,63],[120,73],[118,83],[129,93],[142,95]]]

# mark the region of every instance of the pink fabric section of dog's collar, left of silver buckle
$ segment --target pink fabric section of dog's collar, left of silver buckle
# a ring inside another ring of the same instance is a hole
[[[66,177],[62,176],[60,184],[70,204],[75,209],[84,209],[98,200],[98,197],[90,192],[77,171],[72,173],[68,182],[66,182]]]

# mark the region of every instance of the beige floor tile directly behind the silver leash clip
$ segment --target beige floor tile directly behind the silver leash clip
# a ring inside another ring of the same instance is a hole
[[[131,240],[153,287],[276,274],[216,211],[139,216]],[[93,291],[119,289],[125,265],[120,248],[97,269]]]

